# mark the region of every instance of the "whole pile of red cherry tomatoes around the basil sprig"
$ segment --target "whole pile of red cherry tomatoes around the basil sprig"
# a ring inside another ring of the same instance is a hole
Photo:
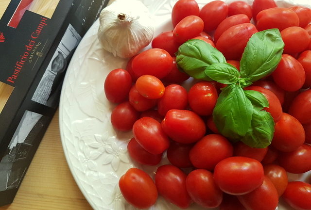
[[[311,9],[279,8],[274,0],[215,0],[200,9],[195,0],[178,0],[172,23],[172,31],[157,35],[151,49],[104,82],[107,99],[117,103],[113,127],[133,131],[127,146],[133,161],[157,165],[166,156],[171,163],[157,167],[155,180],[129,169],[119,181],[124,198],[140,209],[159,194],[182,209],[195,202],[220,210],[275,210],[282,197],[296,210],[311,210],[310,180],[287,177],[311,170]],[[186,89],[189,75],[177,68],[174,53],[185,41],[202,39],[239,69],[248,39],[271,28],[285,43],[282,59],[272,75],[247,89],[269,101],[275,133],[268,147],[252,148],[229,141],[213,122],[225,85],[193,80]]]

